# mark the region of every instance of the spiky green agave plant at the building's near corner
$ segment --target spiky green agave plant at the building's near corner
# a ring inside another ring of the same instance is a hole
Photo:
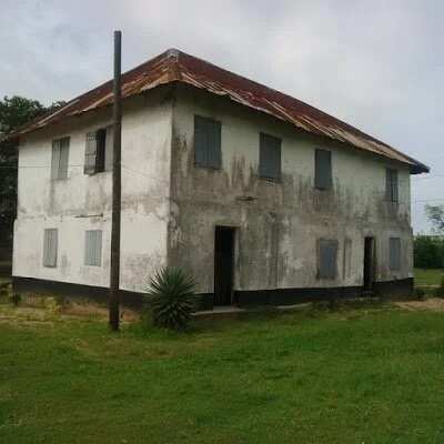
[[[182,269],[162,268],[151,279],[145,302],[153,324],[170,330],[184,330],[195,300],[195,282]]]

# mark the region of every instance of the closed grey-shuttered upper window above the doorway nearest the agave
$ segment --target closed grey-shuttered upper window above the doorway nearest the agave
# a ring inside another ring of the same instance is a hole
[[[194,163],[196,167],[221,168],[221,122],[194,115]]]

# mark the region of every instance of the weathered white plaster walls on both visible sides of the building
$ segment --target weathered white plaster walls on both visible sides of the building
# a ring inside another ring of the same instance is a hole
[[[194,167],[194,114],[222,122],[220,171]],[[85,175],[83,163],[85,133],[110,123],[108,108],[22,141],[16,276],[108,286],[111,173]],[[260,132],[282,139],[281,183],[258,176]],[[64,135],[71,138],[68,179],[51,181],[51,142]],[[331,192],[313,188],[315,148],[333,153]],[[238,228],[236,290],[362,285],[365,236],[376,239],[377,281],[412,276],[410,174],[398,163],[185,87],[125,101],[122,163],[124,290],[143,290],[154,269],[169,263],[188,268],[199,292],[213,292],[215,225]],[[384,201],[386,167],[400,171],[395,205]],[[59,229],[56,269],[42,265],[46,228]],[[83,264],[84,232],[91,229],[103,231],[101,268]],[[400,272],[389,269],[390,236],[402,239]],[[316,279],[321,238],[339,241],[334,281]]]

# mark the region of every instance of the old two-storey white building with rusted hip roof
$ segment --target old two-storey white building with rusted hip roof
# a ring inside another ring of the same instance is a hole
[[[123,74],[121,289],[162,265],[204,305],[408,293],[416,160],[315,108],[176,50]],[[112,83],[13,137],[18,289],[104,295]]]

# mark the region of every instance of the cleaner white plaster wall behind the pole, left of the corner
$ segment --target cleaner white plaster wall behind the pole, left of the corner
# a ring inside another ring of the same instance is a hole
[[[107,108],[30,134],[19,151],[13,275],[108,286],[111,173],[83,173],[85,133],[111,124]],[[169,88],[129,99],[122,120],[121,289],[141,291],[165,264],[172,100]],[[69,135],[68,179],[50,180],[52,139]],[[42,266],[43,230],[59,230],[58,265]],[[102,266],[84,265],[84,232],[102,230]]]

